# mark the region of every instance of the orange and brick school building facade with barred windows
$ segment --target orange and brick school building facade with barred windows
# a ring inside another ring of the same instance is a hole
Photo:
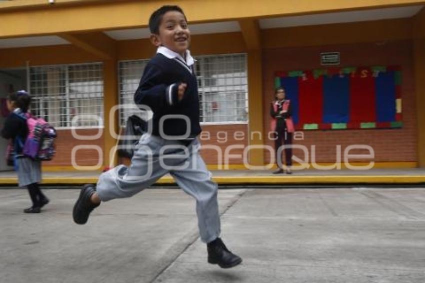
[[[425,1],[241,3],[0,1],[0,98],[28,89],[31,110],[57,128],[57,153],[44,169],[116,162],[111,149],[126,117],[149,115],[132,104],[155,52],[149,15],[177,4],[192,34],[210,168],[272,161],[276,86],[293,102],[296,162],[351,156],[359,165],[425,167]]]

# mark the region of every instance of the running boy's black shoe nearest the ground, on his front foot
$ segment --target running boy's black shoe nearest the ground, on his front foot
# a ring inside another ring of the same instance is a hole
[[[242,262],[242,258],[231,253],[220,238],[207,243],[208,263],[218,264],[221,268],[230,268]]]

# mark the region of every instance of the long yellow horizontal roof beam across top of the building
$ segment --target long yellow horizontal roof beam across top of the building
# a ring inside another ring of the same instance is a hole
[[[191,23],[266,18],[423,4],[424,0],[175,0]],[[30,10],[0,10],[0,38],[147,26],[151,12],[168,0],[94,1]],[[243,8],[241,8],[243,4]],[[11,28],[13,27],[13,28]]]

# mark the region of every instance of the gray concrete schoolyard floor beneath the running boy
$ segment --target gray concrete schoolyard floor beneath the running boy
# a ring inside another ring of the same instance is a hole
[[[222,238],[243,258],[206,263],[194,201],[147,189],[72,222],[75,189],[23,214],[0,190],[0,282],[425,282],[423,188],[222,189]]]

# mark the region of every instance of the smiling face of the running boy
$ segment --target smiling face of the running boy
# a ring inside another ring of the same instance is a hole
[[[190,31],[184,15],[178,11],[167,11],[159,24],[159,34],[150,35],[155,46],[163,45],[184,56],[190,44]]]

